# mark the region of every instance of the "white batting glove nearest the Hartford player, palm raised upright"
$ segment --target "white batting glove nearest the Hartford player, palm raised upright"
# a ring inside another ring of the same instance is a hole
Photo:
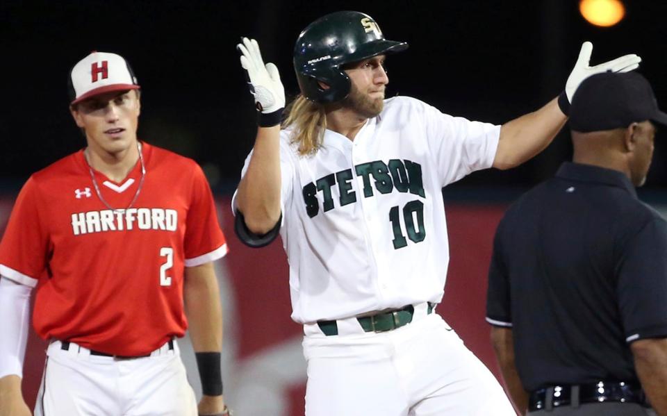
[[[241,66],[247,71],[248,86],[255,97],[257,110],[269,114],[284,108],[285,88],[280,82],[278,68],[273,63],[264,65],[257,41],[241,38],[236,48],[241,53]]]

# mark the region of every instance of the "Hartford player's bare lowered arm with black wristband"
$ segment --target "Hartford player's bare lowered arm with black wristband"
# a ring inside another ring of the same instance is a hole
[[[199,401],[199,415],[224,415],[220,368],[222,306],[213,263],[186,267],[183,301],[204,393]]]

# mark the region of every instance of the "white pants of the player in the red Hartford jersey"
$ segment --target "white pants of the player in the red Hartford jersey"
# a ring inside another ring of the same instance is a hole
[[[174,340],[142,358],[90,355],[51,342],[35,416],[197,416],[195,392]]]

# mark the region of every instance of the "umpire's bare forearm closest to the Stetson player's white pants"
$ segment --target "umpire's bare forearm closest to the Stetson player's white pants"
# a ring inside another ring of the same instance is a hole
[[[528,409],[528,393],[523,389],[519,374],[514,364],[514,339],[511,328],[491,328],[491,344],[500,365],[500,372],[505,381],[505,388],[520,415]]]

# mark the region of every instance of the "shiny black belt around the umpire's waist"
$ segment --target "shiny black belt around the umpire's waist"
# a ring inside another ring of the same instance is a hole
[[[552,410],[555,407],[573,406],[579,403],[618,403],[646,404],[646,396],[641,386],[635,383],[618,381],[598,381],[590,384],[553,385],[535,390],[530,394],[528,410]]]

